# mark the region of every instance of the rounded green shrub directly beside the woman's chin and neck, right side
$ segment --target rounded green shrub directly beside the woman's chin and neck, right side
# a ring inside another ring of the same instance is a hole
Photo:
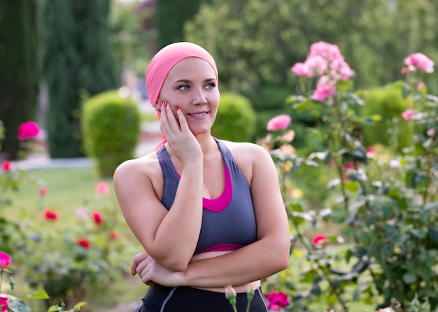
[[[216,123],[211,128],[211,133],[223,140],[252,141],[255,135],[255,118],[255,112],[247,98],[222,93]]]

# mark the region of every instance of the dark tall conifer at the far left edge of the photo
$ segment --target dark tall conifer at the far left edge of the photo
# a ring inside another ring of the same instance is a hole
[[[3,158],[15,159],[18,126],[33,120],[38,97],[36,1],[0,1],[0,120]]]

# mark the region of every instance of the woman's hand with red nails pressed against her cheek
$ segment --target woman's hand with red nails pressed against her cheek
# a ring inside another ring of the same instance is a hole
[[[188,126],[184,113],[178,106],[162,102],[160,128],[169,146],[183,166],[192,161],[203,161],[202,149]]]

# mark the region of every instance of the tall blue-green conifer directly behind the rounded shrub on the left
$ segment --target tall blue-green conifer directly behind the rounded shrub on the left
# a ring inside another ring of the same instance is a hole
[[[45,1],[43,74],[49,89],[52,158],[83,156],[81,97],[118,85],[109,43],[110,4],[110,0]]]

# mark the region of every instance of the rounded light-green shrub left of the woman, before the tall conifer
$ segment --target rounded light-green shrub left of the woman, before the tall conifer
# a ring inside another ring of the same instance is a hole
[[[85,154],[94,158],[101,177],[112,177],[120,163],[134,157],[141,115],[132,98],[106,91],[83,103]]]

